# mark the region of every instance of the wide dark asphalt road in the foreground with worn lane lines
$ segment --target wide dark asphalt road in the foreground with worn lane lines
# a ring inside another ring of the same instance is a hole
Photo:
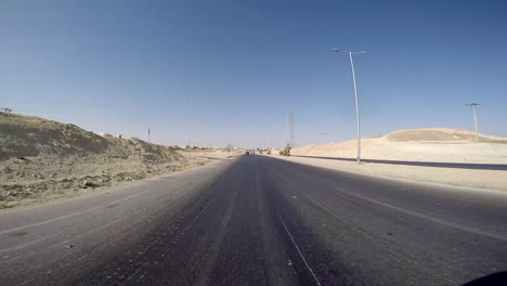
[[[0,212],[1,285],[463,285],[507,271],[507,195],[265,156]]]

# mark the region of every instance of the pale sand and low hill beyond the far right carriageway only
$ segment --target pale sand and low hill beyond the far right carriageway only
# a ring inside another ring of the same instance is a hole
[[[427,130],[433,132],[425,132]],[[309,145],[295,148],[290,153],[355,158],[356,142],[350,140]],[[367,159],[507,164],[507,139],[481,134],[479,143],[476,143],[472,132],[459,129],[414,129],[395,131],[384,138],[363,138],[361,151],[362,157]]]

